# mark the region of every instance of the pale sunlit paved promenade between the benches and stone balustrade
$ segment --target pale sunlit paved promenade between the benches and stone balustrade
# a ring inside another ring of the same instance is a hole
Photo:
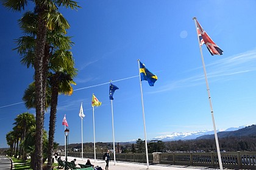
[[[76,158],[76,164],[85,164],[87,161],[87,158],[77,158],[77,157],[68,157],[68,161],[73,160]],[[64,160],[65,157],[62,157],[62,160]],[[105,169],[105,161],[104,160],[96,160],[94,162],[94,159],[90,159],[91,164],[94,166],[101,166],[102,169]],[[55,160],[56,162],[56,160]],[[80,167],[77,165],[77,167]],[[109,170],[144,170],[147,169],[147,165],[144,163],[127,163],[124,161],[116,161],[116,165],[114,165],[114,161],[110,161],[109,163]],[[201,166],[182,166],[182,165],[149,165],[149,169],[151,170],[199,170],[199,169],[213,169],[213,168],[207,168],[207,167],[201,167]]]

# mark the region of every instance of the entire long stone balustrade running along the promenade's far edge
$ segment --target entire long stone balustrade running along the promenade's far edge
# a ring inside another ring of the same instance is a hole
[[[64,156],[65,152],[59,155]],[[82,157],[81,152],[68,152],[68,156]],[[113,154],[110,154],[113,160]],[[84,153],[84,158],[94,158],[94,153]],[[102,153],[96,154],[97,159],[103,159]],[[256,169],[256,152],[221,152],[224,168]],[[146,163],[146,154],[116,154],[116,161]],[[204,153],[160,153],[149,154],[149,163],[168,165],[188,165],[219,167],[217,152]]]

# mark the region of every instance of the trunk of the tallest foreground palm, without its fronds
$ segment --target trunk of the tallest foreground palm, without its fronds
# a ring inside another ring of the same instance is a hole
[[[38,13],[38,32],[37,32],[37,46],[35,49],[35,88],[36,88],[36,141],[35,141],[35,169],[41,170],[43,168],[43,124],[44,124],[44,105],[45,100],[45,78],[44,75],[44,46],[46,44],[46,22],[42,16],[43,9]]]

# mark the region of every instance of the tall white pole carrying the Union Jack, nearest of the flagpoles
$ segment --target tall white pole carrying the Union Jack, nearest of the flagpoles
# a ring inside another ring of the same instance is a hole
[[[193,20],[194,20],[194,24],[196,25],[196,33],[197,33],[196,17],[194,17]],[[206,87],[207,87],[208,98],[209,98],[209,103],[210,103],[210,108],[211,108],[213,129],[214,129],[214,135],[215,135],[215,142],[216,142],[216,148],[217,148],[218,159],[219,159],[219,168],[222,170],[223,168],[222,168],[221,152],[219,151],[219,141],[218,141],[218,135],[217,135],[217,132],[216,132],[215,119],[214,119],[214,115],[213,115],[212,100],[211,100],[210,89],[209,89],[208,80],[207,80],[207,73],[206,73],[205,64],[204,64],[204,56],[202,54],[202,47],[201,47],[200,39],[199,39],[198,35],[197,35],[197,39],[198,39],[198,42],[199,42],[199,49],[200,49],[200,52],[201,52],[202,65],[203,65],[203,68],[204,68],[205,83],[206,83]],[[212,160],[213,160],[213,158],[212,158]]]

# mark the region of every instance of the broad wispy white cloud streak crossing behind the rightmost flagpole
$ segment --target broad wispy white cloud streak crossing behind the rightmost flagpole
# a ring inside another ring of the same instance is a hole
[[[218,57],[218,56],[217,56]],[[222,57],[222,56],[221,56]],[[207,64],[207,78],[211,81],[230,81],[235,75],[254,72],[256,70],[256,49],[239,53],[237,55],[221,58],[213,63]],[[191,77],[174,80],[159,87],[151,94],[174,90],[179,87],[191,87],[205,83],[204,74],[197,73],[202,67],[196,67],[185,71]],[[193,75],[194,74],[194,75]],[[229,77],[229,79],[227,78]]]

